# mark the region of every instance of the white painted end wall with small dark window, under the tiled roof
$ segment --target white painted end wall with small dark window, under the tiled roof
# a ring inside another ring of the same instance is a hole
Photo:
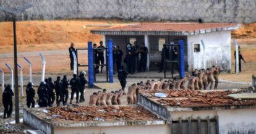
[[[205,44],[205,49],[201,40]],[[200,52],[194,52],[194,44],[197,43],[200,44]],[[189,71],[212,65],[220,66],[223,70],[231,70],[231,31],[189,35],[187,46]]]

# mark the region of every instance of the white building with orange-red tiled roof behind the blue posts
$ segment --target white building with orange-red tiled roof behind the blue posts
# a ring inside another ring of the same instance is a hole
[[[185,43],[186,70],[206,69],[212,65],[231,70],[231,31],[240,27],[234,23],[139,23],[91,32],[103,35],[105,42],[112,39],[123,52],[127,43],[145,43],[150,53],[149,70],[160,66],[163,44],[177,44],[179,40]]]

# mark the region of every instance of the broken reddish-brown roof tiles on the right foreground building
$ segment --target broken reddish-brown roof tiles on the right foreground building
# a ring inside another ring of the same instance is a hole
[[[192,90],[144,90],[147,98],[156,98],[153,94],[166,93],[166,98],[156,99],[164,106],[172,107],[212,107],[212,106],[240,106],[256,104],[256,99],[232,99],[228,94],[243,93],[244,91],[192,91]]]

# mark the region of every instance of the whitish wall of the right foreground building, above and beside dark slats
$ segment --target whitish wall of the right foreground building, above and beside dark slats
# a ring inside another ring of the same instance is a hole
[[[177,111],[171,112],[172,120],[187,120],[192,119],[207,119],[219,117],[219,132],[220,134],[228,133],[252,133],[256,132],[256,109],[227,109],[213,111]]]

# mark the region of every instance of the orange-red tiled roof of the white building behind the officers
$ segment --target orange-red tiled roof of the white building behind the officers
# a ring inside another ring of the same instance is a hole
[[[100,35],[196,35],[213,31],[237,30],[237,23],[139,23],[123,27],[91,30]]]

